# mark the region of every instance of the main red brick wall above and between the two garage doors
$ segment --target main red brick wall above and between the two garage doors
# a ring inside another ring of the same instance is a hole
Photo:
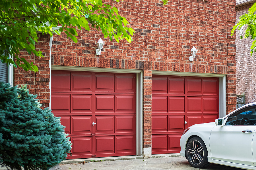
[[[227,113],[235,109],[236,46],[235,37],[230,37],[236,22],[234,0],[169,0],[165,6],[160,0],[104,2],[117,7],[135,29],[133,42],[111,42],[93,28],[91,31],[77,30],[78,43],[61,33],[53,37],[51,65],[144,70],[144,148],[151,147],[152,70],[226,74]],[[99,38],[105,45],[101,55],[96,56]],[[190,62],[189,51],[193,46],[198,53]],[[48,74],[43,75],[48,78]]]

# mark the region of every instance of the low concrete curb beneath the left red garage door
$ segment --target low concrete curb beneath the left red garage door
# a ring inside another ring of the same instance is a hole
[[[132,159],[145,159],[145,158],[143,158],[143,156],[116,156],[116,157],[105,157],[105,158],[84,158],[84,159],[65,160],[65,161],[61,161],[61,163],[59,163],[59,164],[103,162],[103,161],[132,160]]]

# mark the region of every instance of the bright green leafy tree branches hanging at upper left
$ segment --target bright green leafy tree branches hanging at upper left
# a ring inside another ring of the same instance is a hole
[[[167,1],[163,0],[164,5]],[[43,57],[42,51],[35,48],[38,32],[52,36],[64,31],[74,42],[77,42],[75,28],[89,31],[88,23],[101,29],[111,41],[131,42],[135,32],[116,7],[103,4],[102,0],[0,0],[0,8],[0,59],[26,71],[38,68],[18,55],[21,49],[26,49],[28,54]]]

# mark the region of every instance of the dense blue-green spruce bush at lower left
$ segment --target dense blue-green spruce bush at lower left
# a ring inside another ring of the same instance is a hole
[[[47,170],[67,157],[71,142],[60,118],[40,109],[26,86],[0,82],[0,165],[21,170]]]

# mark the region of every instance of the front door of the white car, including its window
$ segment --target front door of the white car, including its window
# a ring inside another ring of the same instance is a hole
[[[255,108],[249,106],[238,110],[226,118],[224,126],[212,129],[209,140],[212,159],[254,166],[252,141],[256,129]]]

